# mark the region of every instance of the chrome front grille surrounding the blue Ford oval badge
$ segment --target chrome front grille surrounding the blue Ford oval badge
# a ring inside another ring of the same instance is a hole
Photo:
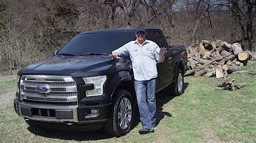
[[[47,86],[47,91],[37,86]],[[20,81],[21,99],[51,102],[77,102],[77,85],[69,76],[24,75]]]

